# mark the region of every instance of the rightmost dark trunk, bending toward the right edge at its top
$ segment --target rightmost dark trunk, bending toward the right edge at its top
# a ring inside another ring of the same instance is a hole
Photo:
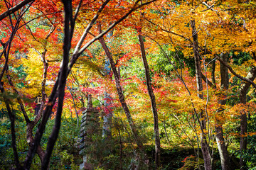
[[[252,69],[250,69],[250,72],[247,74],[246,78],[253,81],[255,77],[256,77],[256,67],[252,67]],[[244,82],[240,88],[239,100],[240,100],[240,103],[242,104],[246,104],[246,95],[250,85],[251,85],[250,83]],[[240,153],[242,154],[242,152],[245,152],[247,147],[247,140],[245,137],[247,132],[247,115],[244,111],[242,111],[240,115],[240,128],[241,128]],[[240,157],[240,169],[245,169],[245,162],[243,161],[242,157]]]

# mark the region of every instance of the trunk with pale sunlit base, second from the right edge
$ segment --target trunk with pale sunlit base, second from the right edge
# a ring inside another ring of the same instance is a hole
[[[227,62],[228,54],[222,55],[222,59]],[[228,78],[228,68],[225,67],[225,65],[220,63],[220,77],[221,77],[221,85],[220,90],[225,93],[225,91],[228,89],[229,84],[229,78]],[[220,94],[220,98],[226,98],[226,94]],[[218,146],[218,151],[220,154],[220,162],[221,162],[221,169],[223,170],[229,170],[230,169],[230,162],[229,162],[229,155],[228,155],[228,149],[225,145],[225,140],[223,137],[223,120],[222,120],[222,113],[224,111],[223,105],[226,103],[226,99],[219,99],[218,103],[221,105],[220,108],[218,108],[217,113],[220,115],[217,118],[215,118],[215,132],[216,132],[216,142]]]

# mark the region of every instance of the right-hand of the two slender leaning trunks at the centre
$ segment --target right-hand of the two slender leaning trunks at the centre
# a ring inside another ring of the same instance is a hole
[[[151,79],[149,75],[149,64],[146,61],[146,52],[145,52],[145,47],[144,47],[144,42],[142,38],[142,30],[138,30],[139,33],[139,45],[142,51],[142,60],[145,68],[145,75],[146,75],[146,87],[149,93],[149,97],[151,100],[151,108],[153,112],[153,117],[154,117],[154,137],[155,137],[155,164],[156,164],[156,169],[160,169],[161,164],[160,164],[160,137],[159,137],[159,120],[158,120],[158,113],[157,113],[157,108],[156,108],[156,98],[154,96],[154,91],[152,89],[152,84],[151,84]]]

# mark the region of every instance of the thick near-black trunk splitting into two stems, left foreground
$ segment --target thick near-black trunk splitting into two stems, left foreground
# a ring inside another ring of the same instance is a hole
[[[53,130],[51,132],[51,135],[48,139],[48,145],[46,148],[46,153],[43,157],[43,162],[41,164],[41,169],[48,169],[48,165],[50,162],[50,156],[53,152],[53,147],[55,145],[55,142],[58,138],[58,132],[60,131],[60,124],[61,124],[61,114],[63,110],[63,101],[65,96],[65,83],[68,77],[68,62],[69,62],[69,52],[71,47],[71,40],[73,37],[73,28],[75,26],[75,19],[72,15],[72,1],[63,1],[64,5],[64,11],[65,11],[65,21],[64,21],[64,42],[63,42],[63,61],[62,65],[60,67],[60,71],[58,73],[58,78],[55,81],[55,84],[53,86],[53,91],[50,95],[48,105],[46,106],[46,109],[43,111],[43,118],[41,121],[41,124],[39,125],[38,130],[36,131],[35,138],[31,144],[30,149],[28,150],[28,154],[26,157],[26,161],[24,163],[25,169],[30,169],[32,159],[35,155],[35,152],[38,151],[38,147],[40,146],[41,137],[43,136],[43,132],[46,129],[46,123],[48,121],[48,118],[50,117],[50,113],[53,109],[53,105],[56,101],[56,98],[58,97],[58,107],[57,107],[57,113],[55,116],[55,124],[53,125]],[[46,51],[45,51],[46,52]],[[46,64],[46,63],[44,63]],[[46,68],[46,67],[45,67]],[[46,76],[46,75],[44,75]],[[43,107],[43,105],[41,105]],[[40,150],[39,150],[40,152]]]

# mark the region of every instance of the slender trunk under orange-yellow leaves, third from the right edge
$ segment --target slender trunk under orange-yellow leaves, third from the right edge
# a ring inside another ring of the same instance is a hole
[[[196,31],[196,22],[195,20],[191,21],[192,28],[192,37],[193,37],[193,53],[195,58],[196,65],[196,85],[198,91],[198,97],[203,99],[203,82],[202,82],[202,73],[201,73],[201,64],[200,64],[200,56],[198,52],[198,33]],[[206,170],[213,169],[212,167],[212,159],[209,152],[209,146],[206,139],[206,115],[203,111],[200,112],[200,122],[201,122],[201,149],[203,153],[204,166]]]

